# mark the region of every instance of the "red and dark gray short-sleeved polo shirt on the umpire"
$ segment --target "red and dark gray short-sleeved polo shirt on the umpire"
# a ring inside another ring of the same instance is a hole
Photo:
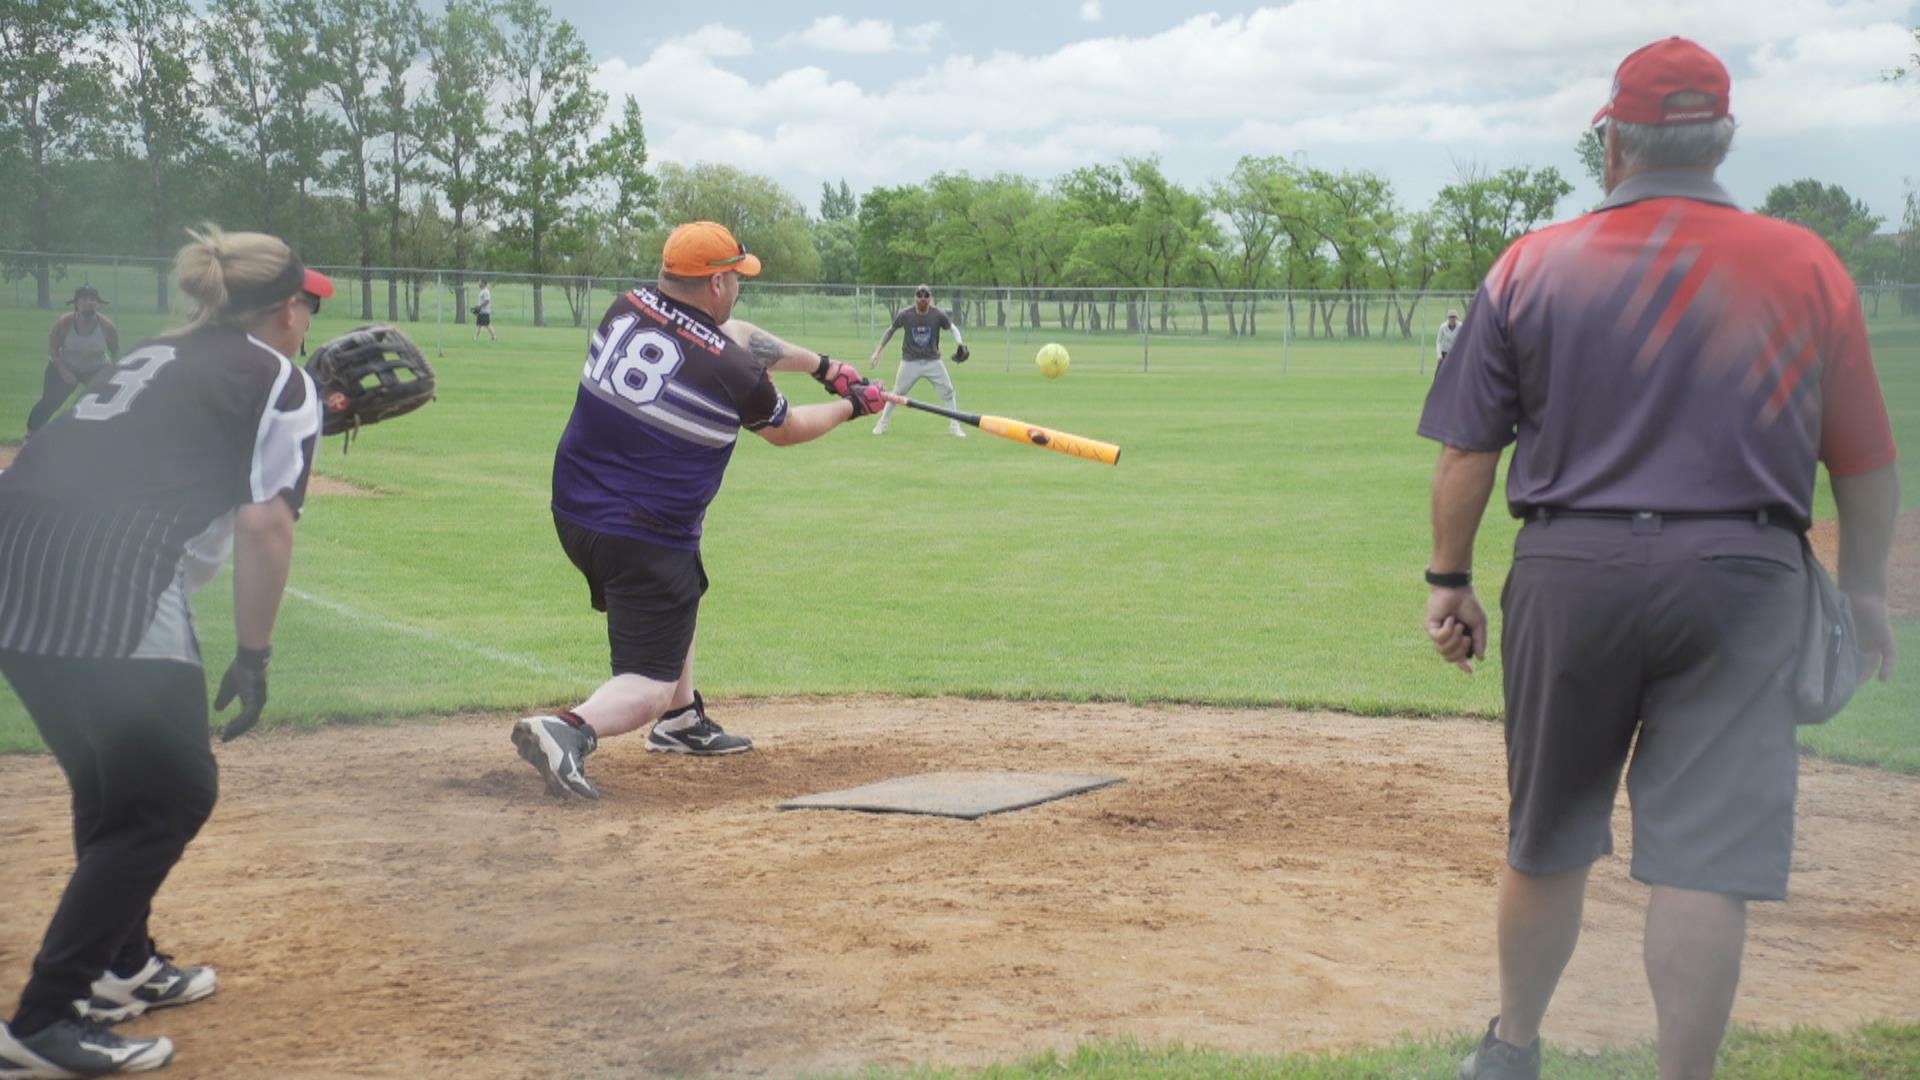
[[[1517,444],[1507,507],[1812,517],[1895,459],[1859,292],[1820,236],[1709,177],[1642,173],[1494,263],[1419,432]]]

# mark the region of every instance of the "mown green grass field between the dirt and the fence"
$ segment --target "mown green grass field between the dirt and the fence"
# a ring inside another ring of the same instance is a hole
[[[156,329],[131,315],[129,342]],[[323,315],[319,334],[348,329]],[[0,313],[0,417],[36,396],[46,315]],[[776,331],[787,327],[774,325]],[[1440,665],[1419,630],[1434,448],[1413,434],[1427,379],[1400,344],[1073,340],[1058,382],[956,367],[962,405],[1119,442],[1100,467],[900,415],[789,450],[743,438],[708,515],[699,671],[710,696],[972,694],[1286,703],[1496,715],[1498,659]],[[419,338],[432,352],[434,331]],[[808,344],[864,357],[851,334]],[[449,334],[440,402],[371,429],[319,471],[275,640],[267,723],[570,703],[605,673],[605,630],[547,513],[582,334]],[[1920,325],[1878,334],[1901,440],[1920,436]],[[885,371],[891,377],[891,365]],[[781,377],[797,402],[822,400]],[[920,388],[925,396],[929,390]],[[19,421],[13,421],[19,423]],[[1908,503],[1920,486],[1908,484]],[[1830,509],[1826,511],[1830,513]],[[1488,515],[1478,577],[1515,523]],[[1488,600],[1498,590],[1486,590]],[[200,598],[207,655],[230,650],[225,578]],[[1920,625],[1893,686],[1812,734],[1822,751],[1920,773]],[[0,749],[36,749],[12,696]]]

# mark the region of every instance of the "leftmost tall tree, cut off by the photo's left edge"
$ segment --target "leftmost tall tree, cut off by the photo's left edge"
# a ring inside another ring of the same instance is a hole
[[[94,37],[104,21],[96,0],[0,0],[0,158],[27,188],[21,240],[35,252],[61,240],[61,165],[106,148],[96,117],[109,81]],[[52,307],[52,265],[35,259],[29,273],[38,306]]]

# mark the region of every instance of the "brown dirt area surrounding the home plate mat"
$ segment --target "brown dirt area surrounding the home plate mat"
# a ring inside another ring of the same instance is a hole
[[[716,715],[758,749],[612,740],[601,803],[549,799],[507,717],[221,748],[219,811],[156,919],[221,994],[132,1030],[171,1034],[179,1076],[791,1076],[1123,1034],[1338,1047],[1494,1011],[1496,724],[956,700]],[[772,809],[943,769],[1127,782],[977,822]],[[0,757],[0,790],[10,1005],[71,855],[48,757]],[[1795,897],[1753,909],[1738,1019],[1914,1019],[1920,778],[1807,761],[1801,811]],[[1561,1045],[1651,1036],[1642,899],[1603,863]]]

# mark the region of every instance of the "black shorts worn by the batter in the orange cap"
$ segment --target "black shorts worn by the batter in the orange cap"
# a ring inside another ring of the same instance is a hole
[[[612,673],[678,682],[707,592],[701,553],[595,532],[561,515],[553,527],[566,557],[588,578],[593,609],[607,613]]]

